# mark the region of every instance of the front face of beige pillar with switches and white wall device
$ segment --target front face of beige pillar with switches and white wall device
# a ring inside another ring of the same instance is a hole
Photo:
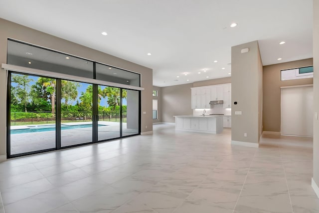
[[[249,48],[249,52],[241,53],[241,49]],[[239,142],[259,142],[259,101],[260,101],[260,53],[257,41],[233,46],[231,48],[232,64],[232,118],[231,140]],[[233,102],[237,101],[237,105]],[[241,111],[242,115],[235,115]],[[244,137],[247,133],[247,137]]]

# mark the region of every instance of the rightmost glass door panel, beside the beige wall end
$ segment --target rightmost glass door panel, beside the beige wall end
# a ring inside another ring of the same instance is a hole
[[[122,136],[139,134],[139,91],[122,89]]]

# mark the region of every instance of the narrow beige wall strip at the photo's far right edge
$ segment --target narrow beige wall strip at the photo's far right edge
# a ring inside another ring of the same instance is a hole
[[[314,111],[319,113],[319,1],[314,0]],[[314,120],[314,176],[319,186],[319,120]],[[318,195],[318,194],[317,194]],[[319,195],[318,195],[319,196]]]

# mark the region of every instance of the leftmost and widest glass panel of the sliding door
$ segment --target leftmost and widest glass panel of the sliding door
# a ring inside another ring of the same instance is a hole
[[[55,148],[56,79],[11,73],[10,155]]]

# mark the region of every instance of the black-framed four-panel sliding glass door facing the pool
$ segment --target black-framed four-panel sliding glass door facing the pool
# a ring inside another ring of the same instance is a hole
[[[9,157],[139,134],[139,91],[13,72],[9,76]]]

